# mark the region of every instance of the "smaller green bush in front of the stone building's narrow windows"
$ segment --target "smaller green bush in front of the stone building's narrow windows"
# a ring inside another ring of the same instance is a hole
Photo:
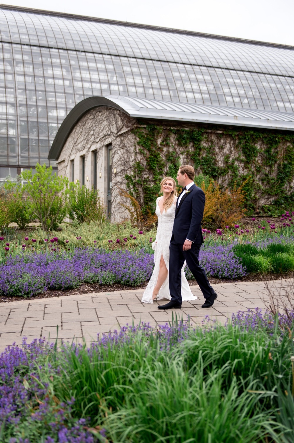
[[[94,188],[80,186],[79,183],[69,184],[68,216],[79,223],[98,221],[103,223],[106,218],[106,208],[98,191]]]

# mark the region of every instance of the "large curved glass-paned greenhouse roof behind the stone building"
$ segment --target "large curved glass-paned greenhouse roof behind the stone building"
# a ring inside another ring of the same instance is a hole
[[[0,165],[48,163],[70,110],[123,95],[294,111],[294,49],[0,5]]]

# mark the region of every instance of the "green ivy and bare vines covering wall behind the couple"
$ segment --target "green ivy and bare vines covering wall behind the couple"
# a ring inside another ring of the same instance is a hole
[[[181,163],[196,174],[233,189],[246,179],[248,210],[264,202],[277,207],[294,205],[294,135],[282,132],[219,128],[174,128],[154,124],[133,129],[136,161],[126,175],[128,191],[143,214],[155,209],[162,177],[175,178]]]

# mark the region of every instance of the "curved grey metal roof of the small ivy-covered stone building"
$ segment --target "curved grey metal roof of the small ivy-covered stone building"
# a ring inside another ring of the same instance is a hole
[[[129,117],[187,123],[230,125],[247,128],[275,129],[294,132],[294,113],[198,105],[175,101],[110,95],[88,97],[80,101],[65,117],[49,151],[49,160],[58,160],[75,124],[88,111],[99,106],[119,109]]]

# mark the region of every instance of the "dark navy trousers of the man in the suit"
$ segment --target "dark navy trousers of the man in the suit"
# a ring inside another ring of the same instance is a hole
[[[169,266],[169,284],[171,299],[179,304],[182,303],[181,287],[181,268],[184,261],[188,265],[188,268],[192,272],[196,282],[199,284],[204,298],[210,297],[215,293],[211,287],[204,268],[200,266],[198,256],[200,251],[200,245],[192,243],[191,249],[183,251],[183,245],[179,245],[174,241],[170,242],[170,266]]]

